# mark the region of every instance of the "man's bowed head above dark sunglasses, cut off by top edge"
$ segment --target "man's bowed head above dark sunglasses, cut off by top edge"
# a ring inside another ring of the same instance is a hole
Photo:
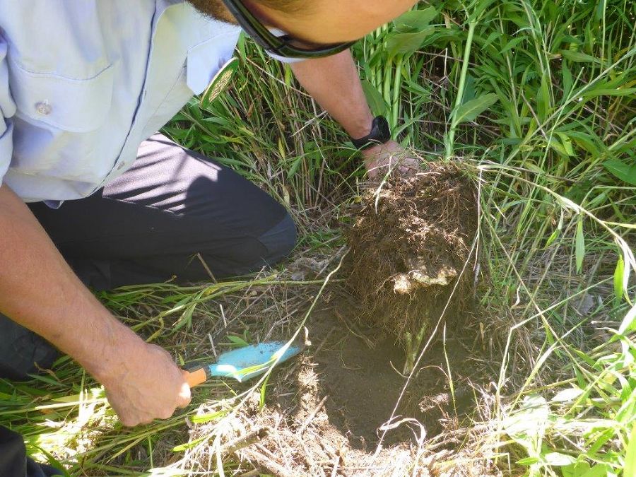
[[[235,23],[223,0],[190,0],[202,13]],[[268,27],[308,46],[353,42],[393,20],[414,0],[235,0]]]

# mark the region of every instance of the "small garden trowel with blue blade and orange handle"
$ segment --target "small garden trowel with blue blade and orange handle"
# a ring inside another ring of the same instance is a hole
[[[263,375],[269,367],[283,363],[302,351],[304,346],[285,341],[272,341],[245,346],[221,353],[216,363],[198,365],[184,371],[190,387],[199,386],[211,377],[233,377],[239,382]]]

